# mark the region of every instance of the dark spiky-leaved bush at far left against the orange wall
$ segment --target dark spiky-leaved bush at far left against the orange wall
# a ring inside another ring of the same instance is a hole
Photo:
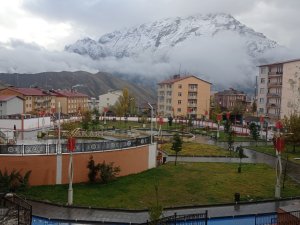
[[[0,192],[16,192],[25,190],[29,186],[29,177],[31,170],[27,171],[24,176],[20,171],[15,169],[9,174],[7,170],[2,173],[0,170]]]

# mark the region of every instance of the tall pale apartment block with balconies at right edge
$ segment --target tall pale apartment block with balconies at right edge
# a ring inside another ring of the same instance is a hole
[[[271,120],[300,113],[300,59],[260,65],[257,113]]]

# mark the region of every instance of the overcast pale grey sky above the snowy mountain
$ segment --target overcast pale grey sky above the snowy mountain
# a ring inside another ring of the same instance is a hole
[[[215,12],[230,13],[281,45],[299,45],[299,0],[4,0],[0,6],[0,42],[49,50],[161,18]]]

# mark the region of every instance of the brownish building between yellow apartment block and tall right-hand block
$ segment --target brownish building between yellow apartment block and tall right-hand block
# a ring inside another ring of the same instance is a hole
[[[221,109],[232,110],[237,104],[246,108],[246,94],[233,88],[215,93],[214,104]]]

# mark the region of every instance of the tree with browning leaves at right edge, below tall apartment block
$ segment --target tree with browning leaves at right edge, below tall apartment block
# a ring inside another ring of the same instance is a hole
[[[295,152],[296,145],[300,144],[300,115],[293,113],[290,117],[285,116],[283,124],[288,133],[285,141],[293,146],[293,152]]]

